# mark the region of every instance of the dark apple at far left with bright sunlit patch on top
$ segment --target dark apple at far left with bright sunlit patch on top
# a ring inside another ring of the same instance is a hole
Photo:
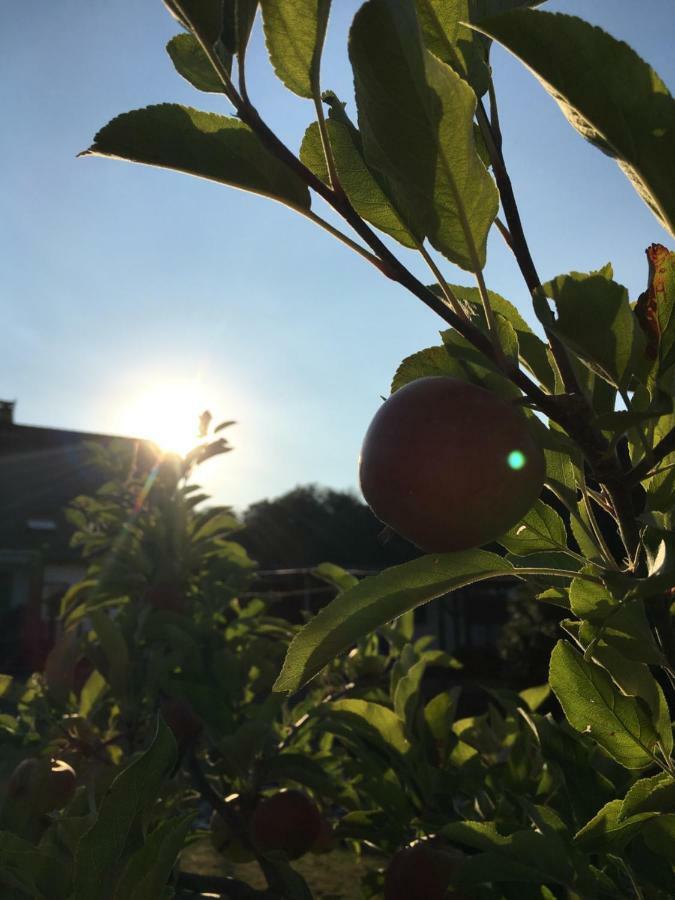
[[[25,804],[34,815],[67,806],[75,793],[75,770],[60,759],[22,760],[7,784],[7,799]]]

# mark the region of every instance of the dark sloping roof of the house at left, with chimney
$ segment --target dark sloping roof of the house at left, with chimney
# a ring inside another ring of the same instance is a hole
[[[0,401],[0,551],[40,550],[50,561],[77,558],[69,547],[72,528],[64,510],[104,481],[91,445],[136,443],[150,464],[157,448],[135,438],[19,425],[13,408]]]

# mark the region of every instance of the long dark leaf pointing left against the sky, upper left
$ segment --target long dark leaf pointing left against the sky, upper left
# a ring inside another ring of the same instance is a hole
[[[80,156],[107,156],[208,178],[309,209],[307,187],[238,119],[163,103],[124,113]]]

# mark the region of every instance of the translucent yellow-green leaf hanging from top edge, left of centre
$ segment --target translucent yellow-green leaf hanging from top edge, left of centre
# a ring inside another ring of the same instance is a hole
[[[267,52],[279,79],[300,97],[319,92],[330,0],[260,0]]]

